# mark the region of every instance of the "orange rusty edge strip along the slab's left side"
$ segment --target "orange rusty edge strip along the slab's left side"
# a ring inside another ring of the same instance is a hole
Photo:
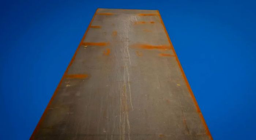
[[[99,9],[99,8],[98,8],[98,9]],[[97,9],[96,12],[94,13],[93,19],[94,19],[95,15],[96,15],[98,9]],[[54,91],[52,98],[50,99],[50,101],[49,101],[49,103],[48,103],[48,105],[47,105],[47,107],[46,107],[46,109],[45,109],[43,115],[41,116],[41,119],[39,120],[37,126],[36,126],[35,129],[34,129],[34,132],[32,133],[32,135],[31,135],[31,137],[30,137],[30,140],[33,140],[33,139],[34,139],[34,136],[35,136],[35,134],[38,132],[38,129],[39,129],[39,126],[40,126],[41,122],[45,119],[46,113],[47,113],[47,111],[48,111],[48,109],[49,109],[49,107],[50,107],[50,105],[51,105],[51,103],[52,103],[54,97],[56,96],[57,92],[59,91],[60,85],[61,85],[63,79],[65,78],[65,76],[67,75],[69,67],[72,65],[73,61],[75,60],[76,54],[77,54],[77,52],[78,52],[78,50],[79,50],[81,44],[83,43],[83,40],[84,40],[84,38],[85,38],[85,36],[86,36],[86,34],[87,34],[87,32],[88,32],[90,26],[91,26],[91,23],[93,22],[93,19],[91,19],[91,22],[90,22],[89,26],[87,27],[86,32],[84,33],[83,38],[82,38],[82,40],[80,41],[80,43],[79,43],[79,45],[78,45],[78,48],[77,48],[76,51],[75,51],[74,56],[72,57],[71,61],[69,62],[68,67],[67,67],[66,71],[64,72],[64,75],[62,76],[61,80],[60,80],[60,83],[58,84],[56,90]]]

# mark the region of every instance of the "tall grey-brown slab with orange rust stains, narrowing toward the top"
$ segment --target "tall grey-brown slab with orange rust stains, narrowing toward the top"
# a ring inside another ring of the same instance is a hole
[[[161,16],[98,9],[31,140],[210,140]]]

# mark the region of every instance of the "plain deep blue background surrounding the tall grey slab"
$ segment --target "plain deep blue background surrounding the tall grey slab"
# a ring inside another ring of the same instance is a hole
[[[158,9],[214,140],[255,140],[256,3],[2,1],[0,139],[28,140],[97,8]]]

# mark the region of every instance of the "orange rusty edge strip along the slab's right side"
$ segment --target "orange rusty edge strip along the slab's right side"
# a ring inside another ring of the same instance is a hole
[[[204,125],[204,128],[206,129],[206,135],[208,135],[209,138],[210,138],[211,140],[213,140],[213,139],[212,139],[212,136],[211,136],[211,133],[210,133],[210,131],[209,131],[209,128],[207,127],[206,121],[204,120],[204,117],[203,117],[203,115],[202,115],[202,112],[200,111],[200,108],[199,108],[199,106],[198,106],[198,104],[197,104],[195,95],[193,94],[192,89],[191,89],[191,87],[190,87],[190,85],[189,85],[189,83],[188,83],[188,79],[187,79],[187,77],[186,77],[186,75],[185,75],[185,73],[184,73],[184,71],[183,71],[183,69],[182,69],[182,67],[181,67],[180,60],[178,59],[177,54],[176,54],[176,52],[175,52],[175,50],[174,50],[173,44],[172,44],[172,42],[171,42],[171,40],[170,40],[170,37],[169,37],[169,35],[168,35],[168,32],[167,32],[167,30],[166,30],[166,28],[165,28],[165,24],[163,24],[163,19],[162,19],[161,15],[160,15],[160,12],[159,12],[158,10],[157,10],[157,12],[158,12],[159,18],[160,18],[160,20],[161,20],[161,24],[163,25],[163,28],[165,29],[166,36],[167,36],[168,41],[169,41],[169,43],[170,43],[170,45],[171,45],[171,47],[172,47],[172,50],[173,50],[173,53],[174,53],[174,55],[175,55],[176,61],[177,61],[177,63],[178,63],[178,66],[180,67],[180,70],[181,70],[181,73],[182,73],[182,77],[183,77],[183,79],[185,80],[185,83],[186,83],[186,85],[187,85],[188,91],[189,91],[189,93],[190,93],[190,95],[191,95],[191,97],[192,97],[192,99],[193,99],[193,101],[194,101],[194,104],[195,104],[195,106],[196,106],[197,113],[198,113],[200,119],[202,120],[202,123],[203,123],[203,125]]]

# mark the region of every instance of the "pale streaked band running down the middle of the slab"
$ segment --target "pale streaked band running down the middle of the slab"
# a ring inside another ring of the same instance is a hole
[[[128,18],[129,20],[128,21],[120,20],[121,22],[120,28],[124,31],[124,33],[117,36],[118,40],[121,40],[124,42],[123,47],[118,47],[120,48],[120,51],[121,51],[121,54],[120,54],[121,64],[124,64],[123,75],[122,75],[123,83],[120,85],[122,89],[120,90],[120,123],[119,123],[120,140],[125,140],[126,136],[128,136],[129,140],[131,139],[130,138],[131,126],[129,123],[129,111],[128,111],[128,107],[130,107],[129,106],[130,104],[131,104],[132,111],[134,110],[132,105],[131,85],[130,85],[130,76],[129,76],[129,67],[131,67],[131,57],[129,53],[129,31],[131,30],[130,29],[131,26],[133,26],[132,23],[134,23],[134,21],[137,21],[137,16],[132,15],[132,16],[127,16],[125,18]],[[114,56],[116,55],[119,55],[119,53],[114,52]],[[129,95],[127,95],[128,90],[129,90]],[[130,99],[128,99],[128,97]],[[113,139],[113,136],[111,139]]]

